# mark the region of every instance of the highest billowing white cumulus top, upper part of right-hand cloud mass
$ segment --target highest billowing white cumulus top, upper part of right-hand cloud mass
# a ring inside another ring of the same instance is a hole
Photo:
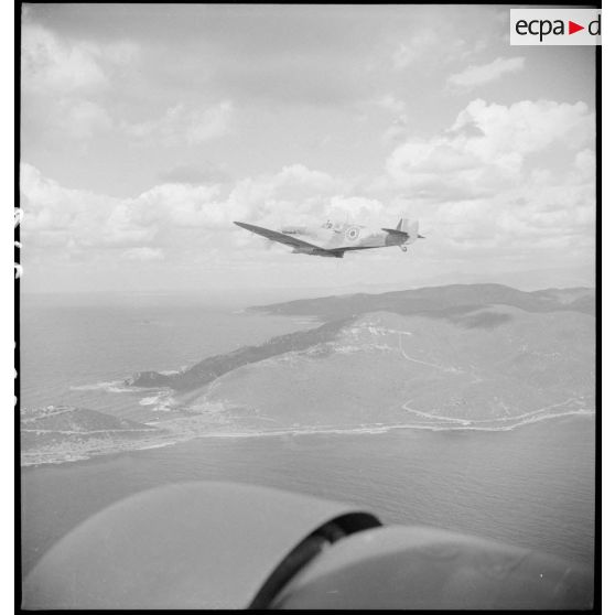
[[[574,151],[593,136],[594,114],[584,102],[525,100],[507,107],[477,99],[443,134],[396,148],[386,168],[398,185],[428,196],[479,196],[517,182],[529,154],[552,145]]]

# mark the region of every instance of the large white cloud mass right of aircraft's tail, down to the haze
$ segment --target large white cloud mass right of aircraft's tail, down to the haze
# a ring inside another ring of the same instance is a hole
[[[445,132],[396,148],[388,177],[431,204],[431,223],[445,237],[440,249],[449,253],[591,250],[594,138],[594,114],[584,102],[474,100]]]

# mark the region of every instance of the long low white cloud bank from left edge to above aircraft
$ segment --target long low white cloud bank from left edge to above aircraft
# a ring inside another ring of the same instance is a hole
[[[278,226],[381,207],[344,197],[344,182],[301,164],[241,180],[226,191],[220,184],[165,183],[118,198],[67,188],[22,163],[20,187],[24,245],[46,250],[50,258],[54,249],[65,255],[121,249],[131,260],[159,260],[163,252],[205,256],[217,242],[227,250],[236,240],[245,242],[245,233],[227,233],[236,230],[236,219]]]

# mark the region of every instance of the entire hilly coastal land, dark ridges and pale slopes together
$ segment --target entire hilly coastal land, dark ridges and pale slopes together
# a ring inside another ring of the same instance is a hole
[[[479,284],[255,308],[325,322],[177,374],[128,378],[136,392],[148,388],[164,397],[153,424],[83,408],[26,411],[22,463],[202,435],[501,430],[592,414],[594,305],[590,289],[528,293]]]

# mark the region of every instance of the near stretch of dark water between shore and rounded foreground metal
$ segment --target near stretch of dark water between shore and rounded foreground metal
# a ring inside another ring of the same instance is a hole
[[[387,522],[463,530],[589,563],[594,417],[568,416],[496,432],[393,429],[195,438],[22,467],[24,573],[55,540],[101,508],[184,481],[261,484],[354,501]]]

